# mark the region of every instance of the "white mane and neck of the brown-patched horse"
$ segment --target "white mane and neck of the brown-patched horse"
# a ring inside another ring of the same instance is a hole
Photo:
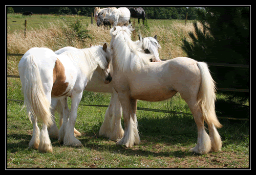
[[[98,45],[91,48],[77,49],[76,51],[66,51],[60,55],[67,55],[91,80],[93,72],[98,65],[102,69],[109,65],[110,60],[105,59],[110,59],[108,54],[110,54],[109,48],[104,52],[103,47]]]

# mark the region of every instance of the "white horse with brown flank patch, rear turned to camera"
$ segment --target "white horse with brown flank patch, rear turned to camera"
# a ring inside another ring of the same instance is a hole
[[[33,123],[30,148],[40,152],[52,152],[47,127],[52,125],[52,115],[60,101],[65,114],[59,132],[59,140],[65,145],[80,146],[74,136],[77,107],[82,91],[91,79],[94,70],[103,76],[104,83],[110,83],[110,53],[106,44],[69,51],[56,55],[49,48],[29,49],[19,62],[19,76],[22,82],[27,113]],[[99,67],[99,68],[97,68]],[[67,111],[67,97],[71,97],[71,111]],[[40,132],[37,120],[43,122]]]

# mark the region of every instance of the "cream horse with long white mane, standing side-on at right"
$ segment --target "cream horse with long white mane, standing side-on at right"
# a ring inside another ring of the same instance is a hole
[[[150,63],[148,55],[136,51],[130,28],[117,26],[110,33],[114,68],[112,84],[118,93],[124,119],[124,136],[116,144],[129,147],[140,143],[137,99],[158,102],[179,92],[198,128],[197,145],[189,151],[206,154],[221,149],[222,142],[216,129],[222,125],[215,113],[215,82],[207,64],[186,57]],[[210,136],[205,131],[204,121]]]

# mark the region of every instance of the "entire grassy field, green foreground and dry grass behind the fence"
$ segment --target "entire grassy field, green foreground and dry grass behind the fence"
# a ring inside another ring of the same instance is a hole
[[[63,46],[78,48],[89,47],[89,43],[110,43],[108,30],[93,25],[87,29],[91,38],[79,39],[71,30],[66,20],[82,19],[90,23],[90,18],[82,16],[33,15],[23,17],[21,14],[7,16],[8,53],[24,54],[29,48],[44,46],[53,50]],[[24,38],[24,25],[27,18],[27,38]],[[17,22],[12,22],[17,21]],[[133,21],[133,19],[132,19]],[[51,22],[29,25],[29,23]],[[137,22],[137,20],[136,20]],[[179,20],[149,20],[150,30],[135,24],[134,40],[138,40],[138,31],[145,36],[158,36],[162,46],[160,58],[172,59],[186,56],[181,50],[181,39],[193,30],[190,21],[184,24]],[[132,37],[133,37],[132,36]],[[18,62],[21,57],[8,56],[7,73],[18,75]],[[19,79],[7,78],[7,98],[24,99]],[[220,94],[218,99],[225,98]],[[83,92],[80,104],[109,105],[110,95],[104,93]],[[51,139],[53,153],[38,153],[28,149],[33,127],[22,102],[7,102],[7,168],[248,168],[249,167],[249,122],[220,119],[223,128],[219,129],[223,147],[217,153],[196,155],[188,150],[196,145],[197,128],[191,115],[166,114],[149,111],[137,111],[138,128],[141,143],[132,148],[115,145],[108,138],[99,137],[99,129],[104,119],[106,108],[78,107],[76,129],[81,132],[78,138],[82,147],[68,147]],[[69,105],[71,102],[69,101]],[[246,104],[248,105],[248,104]],[[138,102],[138,107],[173,110],[190,113],[188,106],[176,94],[164,102]],[[235,116],[234,116],[235,117]],[[246,118],[246,117],[244,117]],[[58,115],[56,115],[58,123]],[[122,123],[123,124],[123,123]],[[57,124],[58,125],[58,124]],[[41,127],[39,123],[39,128]]]

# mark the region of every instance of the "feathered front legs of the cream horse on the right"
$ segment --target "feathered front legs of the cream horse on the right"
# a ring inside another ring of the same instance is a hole
[[[132,147],[140,143],[136,117],[137,99],[131,99],[125,94],[118,94],[118,97],[123,108],[124,135],[116,144]]]

